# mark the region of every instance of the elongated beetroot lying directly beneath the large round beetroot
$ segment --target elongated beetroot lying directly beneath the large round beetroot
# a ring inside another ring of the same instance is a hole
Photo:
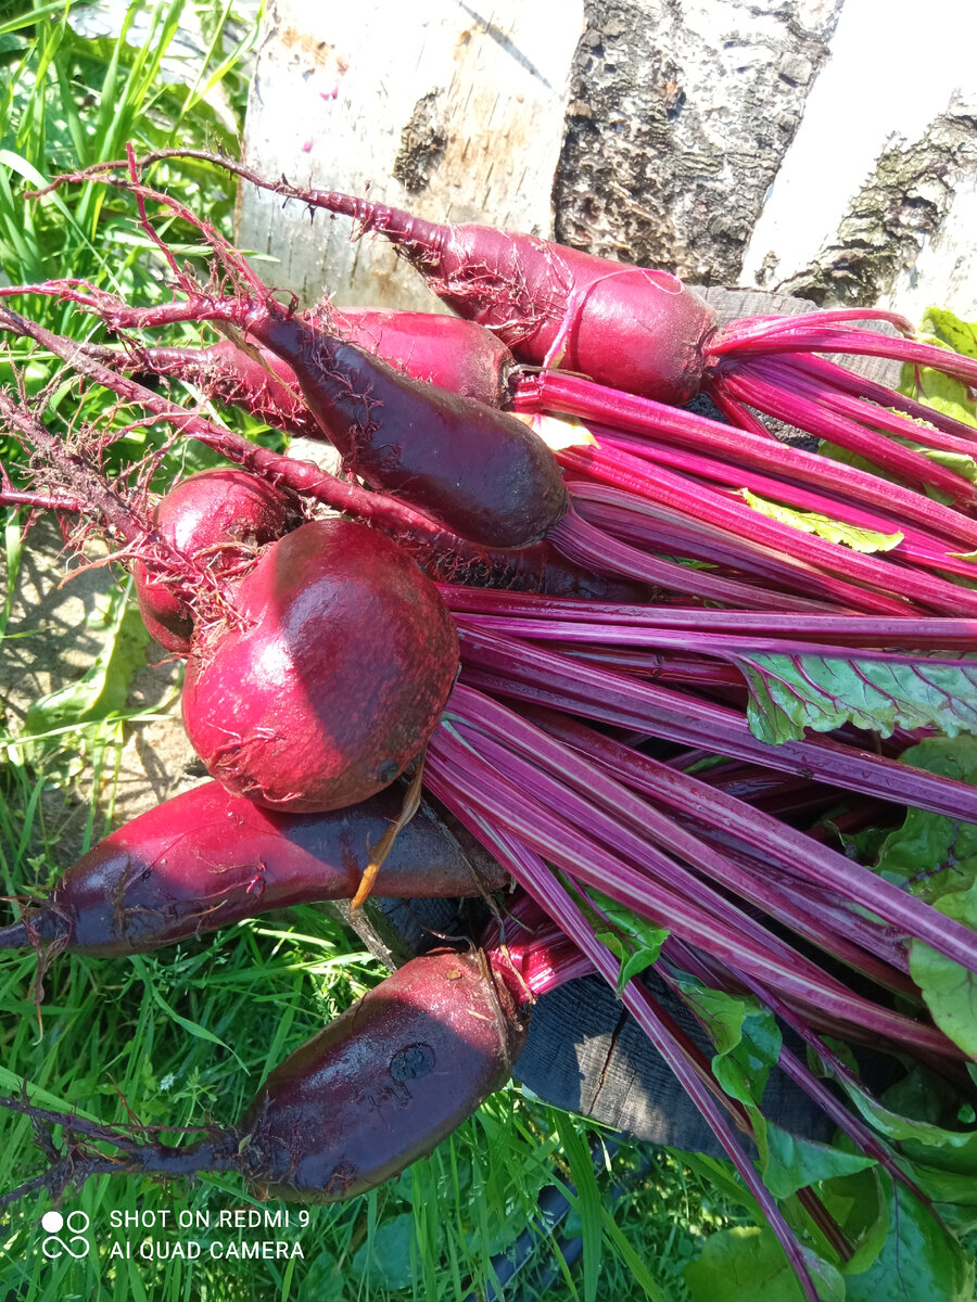
[[[47,901],[0,930],[0,949],[146,953],[268,909],[349,900],[401,805],[391,786],[352,809],[276,814],[207,783],[99,841]],[[423,802],[397,833],[374,894],[449,898],[504,881],[475,841],[466,837],[462,849]]]

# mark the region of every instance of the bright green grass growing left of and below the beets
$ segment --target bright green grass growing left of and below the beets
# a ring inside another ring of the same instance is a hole
[[[190,0],[150,7],[150,39],[138,48],[128,44],[125,33],[117,40],[82,39],[66,21],[65,5],[0,4],[0,266],[8,280],[70,275],[143,302],[165,293],[154,251],[113,191],[89,185],[29,203],[22,189],[117,156],[126,141],[137,150],[177,141],[234,146],[248,89],[241,59],[255,33],[229,36],[229,5],[206,0],[195,8],[207,52],[189,83],[181,83],[165,81],[160,70]],[[219,108],[203,98],[215,91],[223,95]],[[158,180],[165,184],[165,172]],[[227,181],[199,169],[184,176],[180,193],[229,233],[233,190]],[[52,301],[33,299],[25,310],[59,331],[87,328]],[[53,374],[43,355],[27,361],[21,345],[13,352],[16,363],[26,365],[31,388]],[[8,367],[0,381],[9,379]],[[76,391],[64,385],[52,409],[55,418],[76,418]],[[96,392],[81,405],[90,419],[104,409]],[[141,456],[147,437],[130,435],[116,454]],[[0,440],[0,456],[16,471],[20,449],[12,440]],[[23,546],[10,514],[0,639]],[[119,625],[112,628],[119,638]],[[111,697],[89,702],[94,713],[87,716],[77,702],[74,708],[66,721],[40,712],[30,743],[17,736],[0,738],[0,871],[7,896],[50,887],[63,866],[61,829],[46,810],[44,792],[77,777],[82,764],[87,790],[99,777],[111,785],[124,729],[133,720]],[[89,721],[79,732],[82,716]],[[70,772],[66,754],[77,762]],[[98,835],[91,814],[86,838]],[[38,1104],[106,1122],[125,1120],[126,1107],[145,1125],[233,1122],[276,1062],[382,975],[356,937],[320,910],[300,909],[156,956],[61,956],[44,974],[39,1018],[34,957],[5,953],[0,1091],[25,1088]],[[571,1181],[576,1194],[564,1223],[551,1234],[538,1232],[538,1250],[522,1272],[525,1295],[591,1302],[598,1292],[611,1290],[623,1302],[681,1302],[684,1262],[705,1234],[739,1217],[735,1194],[724,1200],[709,1172],[698,1176],[664,1152],[649,1156],[621,1147],[611,1165],[599,1160],[601,1143],[593,1124],[530,1101],[513,1087],[397,1181],[337,1207],[293,1206],[290,1225],[272,1233],[215,1228],[221,1212],[257,1206],[234,1178],[184,1186],[100,1178],[64,1199],[65,1213],[81,1211],[90,1219],[91,1251],[79,1260],[43,1254],[39,1219],[51,1199],[31,1195],[0,1225],[0,1302],[460,1302],[498,1282],[492,1259],[533,1224],[541,1190],[554,1182],[568,1187]],[[29,1121],[0,1115],[0,1187],[13,1187],[43,1164]],[[125,1225],[126,1216],[145,1220],[163,1212],[171,1219],[182,1212],[194,1223],[210,1219],[211,1225],[185,1232],[167,1226],[155,1234]],[[577,1236],[582,1256],[569,1266],[560,1243]],[[169,1249],[167,1259],[139,1256],[141,1242],[154,1237]],[[225,1254],[228,1245],[259,1238],[298,1243],[302,1256],[211,1258],[211,1245]],[[175,1243],[189,1242],[201,1245],[199,1259],[172,1255]],[[505,1297],[520,1295],[522,1275],[503,1290]]]

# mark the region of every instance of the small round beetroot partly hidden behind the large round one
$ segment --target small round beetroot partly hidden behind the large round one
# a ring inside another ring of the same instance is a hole
[[[296,508],[264,479],[245,470],[202,470],[181,480],[156,505],[152,522],[184,556],[229,577],[255,549],[300,521]],[[190,650],[193,611],[165,573],[133,565],[139,612],[167,651]]]

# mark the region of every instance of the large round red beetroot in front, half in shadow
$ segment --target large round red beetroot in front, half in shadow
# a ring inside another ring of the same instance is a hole
[[[434,583],[347,519],[302,525],[194,637],[184,725],[208,772],[272,809],[356,805],[421,753],[459,665]]]

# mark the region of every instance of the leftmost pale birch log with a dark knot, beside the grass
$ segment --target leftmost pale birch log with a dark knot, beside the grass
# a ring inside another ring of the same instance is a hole
[[[582,0],[271,0],[251,85],[253,167],[319,187],[370,193],[438,221],[552,232]],[[483,13],[478,10],[485,10]],[[408,17],[409,14],[409,17]],[[245,187],[240,242],[276,258],[267,279],[310,302],[434,310],[382,241],[350,242],[348,221]]]

